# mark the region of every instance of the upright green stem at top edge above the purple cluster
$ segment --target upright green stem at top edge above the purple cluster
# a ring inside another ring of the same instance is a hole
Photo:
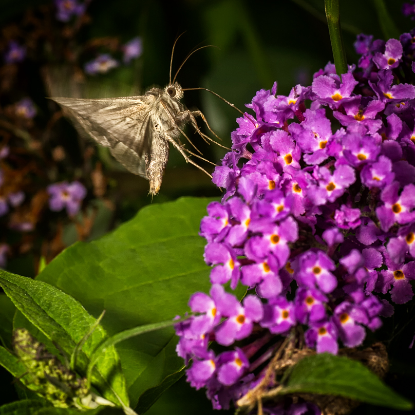
[[[337,75],[342,76],[342,73],[347,72],[347,61],[343,44],[342,29],[340,27],[340,8],[338,3],[339,0],[324,0],[334,65],[336,67]]]

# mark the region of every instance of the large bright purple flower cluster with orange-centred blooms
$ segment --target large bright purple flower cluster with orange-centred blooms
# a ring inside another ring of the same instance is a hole
[[[329,63],[288,97],[275,83],[247,105],[255,116],[237,120],[213,174],[224,197],[200,226],[212,289],[191,297],[195,316],[176,326],[178,354],[193,360],[187,380],[215,408],[260,381],[270,354],[257,353],[273,335],[302,326],[308,347],[336,354],[393,313],[380,293],[412,298],[415,87],[401,74],[414,39],[360,35],[359,69],[339,77]],[[241,303],[228,283],[246,287]]]

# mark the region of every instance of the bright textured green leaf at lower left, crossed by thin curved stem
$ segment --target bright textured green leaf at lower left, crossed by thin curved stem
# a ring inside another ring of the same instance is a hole
[[[95,322],[95,318],[78,301],[45,282],[0,270],[0,286],[17,309],[69,356]],[[77,371],[81,374],[86,372],[89,357],[105,338],[104,329],[97,327],[82,348]],[[93,384],[106,399],[116,404],[121,400],[128,405],[125,380],[115,348],[108,349],[101,356],[94,372]]]

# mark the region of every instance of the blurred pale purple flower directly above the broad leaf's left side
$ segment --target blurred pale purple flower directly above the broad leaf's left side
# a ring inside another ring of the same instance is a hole
[[[78,181],[54,183],[47,187],[47,191],[50,195],[50,210],[58,212],[66,208],[69,216],[79,212],[81,202],[86,196],[86,188]]]

